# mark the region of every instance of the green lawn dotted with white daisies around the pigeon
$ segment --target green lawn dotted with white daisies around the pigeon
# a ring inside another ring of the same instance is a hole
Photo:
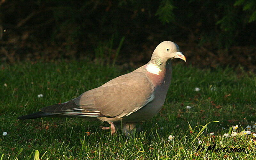
[[[142,122],[143,131],[133,133],[130,139],[120,131],[110,136],[108,130],[99,129],[101,122],[79,118],[16,119],[73,99],[126,72],[87,62],[3,65],[0,159],[255,159],[252,134],[222,137],[234,125],[239,125],[240,132],[256,121],[256,76],[243,70],[173,66],[164,107],[154,118]],[[196,87],[200,91],[196,92]],[[210,132],[214,135],[209,136]],[[175,137],[168,141],[169,135]],[[244,147],[245,152],[196,151],[198,140],[206,147],[216,143],[216,148]]]

